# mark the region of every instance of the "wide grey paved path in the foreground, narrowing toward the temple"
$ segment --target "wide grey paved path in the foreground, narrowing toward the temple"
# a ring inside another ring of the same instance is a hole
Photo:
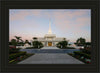
[[[39,53],[18,64],[84,64],[68,54]]]

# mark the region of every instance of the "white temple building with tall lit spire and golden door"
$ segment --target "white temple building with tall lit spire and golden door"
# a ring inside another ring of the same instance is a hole
[[[66,38],[64,37],[56,37],[56,34],[52,34],[51,30],[51,22],[49,22],[49,30],[48,33],[44,35],[44,37],[37,37],[37,39],[33,39],[32,41],[40,41],[43,43],[45,47],[56,46],[56,44],[60,41],[64,41]]]

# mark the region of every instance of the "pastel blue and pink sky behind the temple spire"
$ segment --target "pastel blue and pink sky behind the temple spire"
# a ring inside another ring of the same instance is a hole
[[[90,9],[10,9],[9,40],[20,36],[23,40],[44,37],[51,21],[52,33],[75,42],[83,37],[91,41]]]

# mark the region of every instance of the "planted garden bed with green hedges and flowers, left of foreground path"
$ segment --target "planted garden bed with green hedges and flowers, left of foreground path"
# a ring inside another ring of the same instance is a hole
[[[32,56],[33,54],[28,54],[26,52],[19,51],[19,48],[9,49],[9,64],[17,64],[18,62]]]

